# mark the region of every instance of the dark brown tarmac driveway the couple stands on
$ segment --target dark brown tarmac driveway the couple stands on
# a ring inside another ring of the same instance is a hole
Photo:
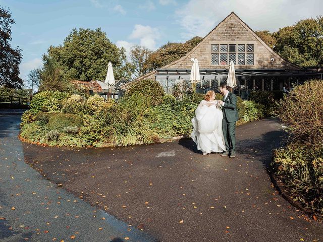
[[[125,148],[59,148],[27,143],[23,147],[26,162],[65,189],[49,185],[51,201],[59,201],[62,193],[73,194],[160,241],[322,241],[322,222],[284,200],[266,170],[272,150],[282,145],[283,137],[276,119],[239,126],[235,159],[215,153],[203,156],[190,139]],[[15,142],[12,147],[20,145]],[[28,172],[34,173],[31,170]],[[9,179],[10,174],[7,176]],[[38,193],[49,189],[44,186],[51,184],[49,181],[39,175],[37,180],[43,184]],[[30,192],[25,195],[26,201],[33,199]],[[18,192],[12,193],[16,198]],[[77,201],[83,204],[80,199]],[[47,200],[42,195],[38,203]],[[43,220],[55,215],[57,208],[50,211],[50,215],[42,214]],[[73,215],[82,211],[76,209]],[[87,224],[92,226],[92,221]]]

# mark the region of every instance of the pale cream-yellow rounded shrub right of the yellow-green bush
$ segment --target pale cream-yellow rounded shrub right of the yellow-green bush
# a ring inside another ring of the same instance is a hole
[[[86,105],[86,98],[78,94],[73,94],[71,97],[63,101],[62,111],[78,115],[87,113],[88,108]]]

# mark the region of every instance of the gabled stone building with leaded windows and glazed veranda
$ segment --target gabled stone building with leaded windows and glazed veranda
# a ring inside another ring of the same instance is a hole
[[[154,79],[171,92],[174,84],[188,82],[194,58],[199,63],[200,90],[219,90],[227,80],[230,61],[235,64],[240,94],[243,90],[282,90],[285,83],[291,86],[321,77],[316,71],[302,69],[280,57],[232,12],[185,56],[133,82]]]

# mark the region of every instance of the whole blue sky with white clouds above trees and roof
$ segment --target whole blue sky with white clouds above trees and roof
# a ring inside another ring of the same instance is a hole
[[[0,5],[16,21],[11,44],[22,49],[23,80],[73,28],[101,28],[129,53],[134,44],[155,50],[169,41],[204,37],[231,12],[254,31],[271,32],[323,14],[322,0],[0,0]]]

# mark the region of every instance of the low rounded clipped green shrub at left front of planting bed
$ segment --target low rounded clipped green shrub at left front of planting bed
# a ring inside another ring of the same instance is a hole
[[[76,126],[81,127],[83,125],[82,117],[72,113],[56,113],[49,117],[48,129],[63,131],[65,127]]]

